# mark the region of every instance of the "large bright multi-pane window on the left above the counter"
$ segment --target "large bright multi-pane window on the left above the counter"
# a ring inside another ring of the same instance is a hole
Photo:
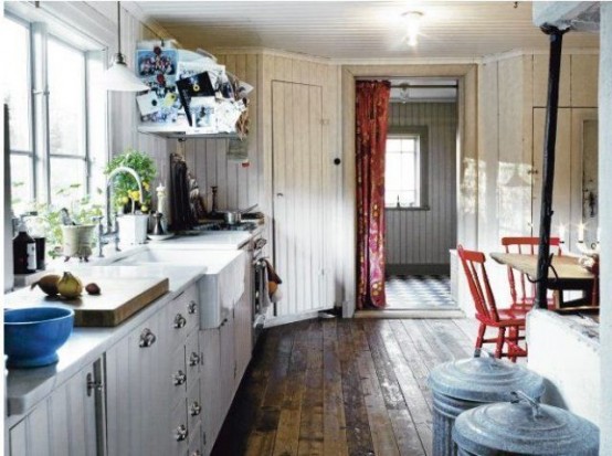
[[[103,182],[106,94],[91,79],[104,55],[42,23],[8,17],[4,24],[12,210],[23,213],[32,201],[63,206]]]

